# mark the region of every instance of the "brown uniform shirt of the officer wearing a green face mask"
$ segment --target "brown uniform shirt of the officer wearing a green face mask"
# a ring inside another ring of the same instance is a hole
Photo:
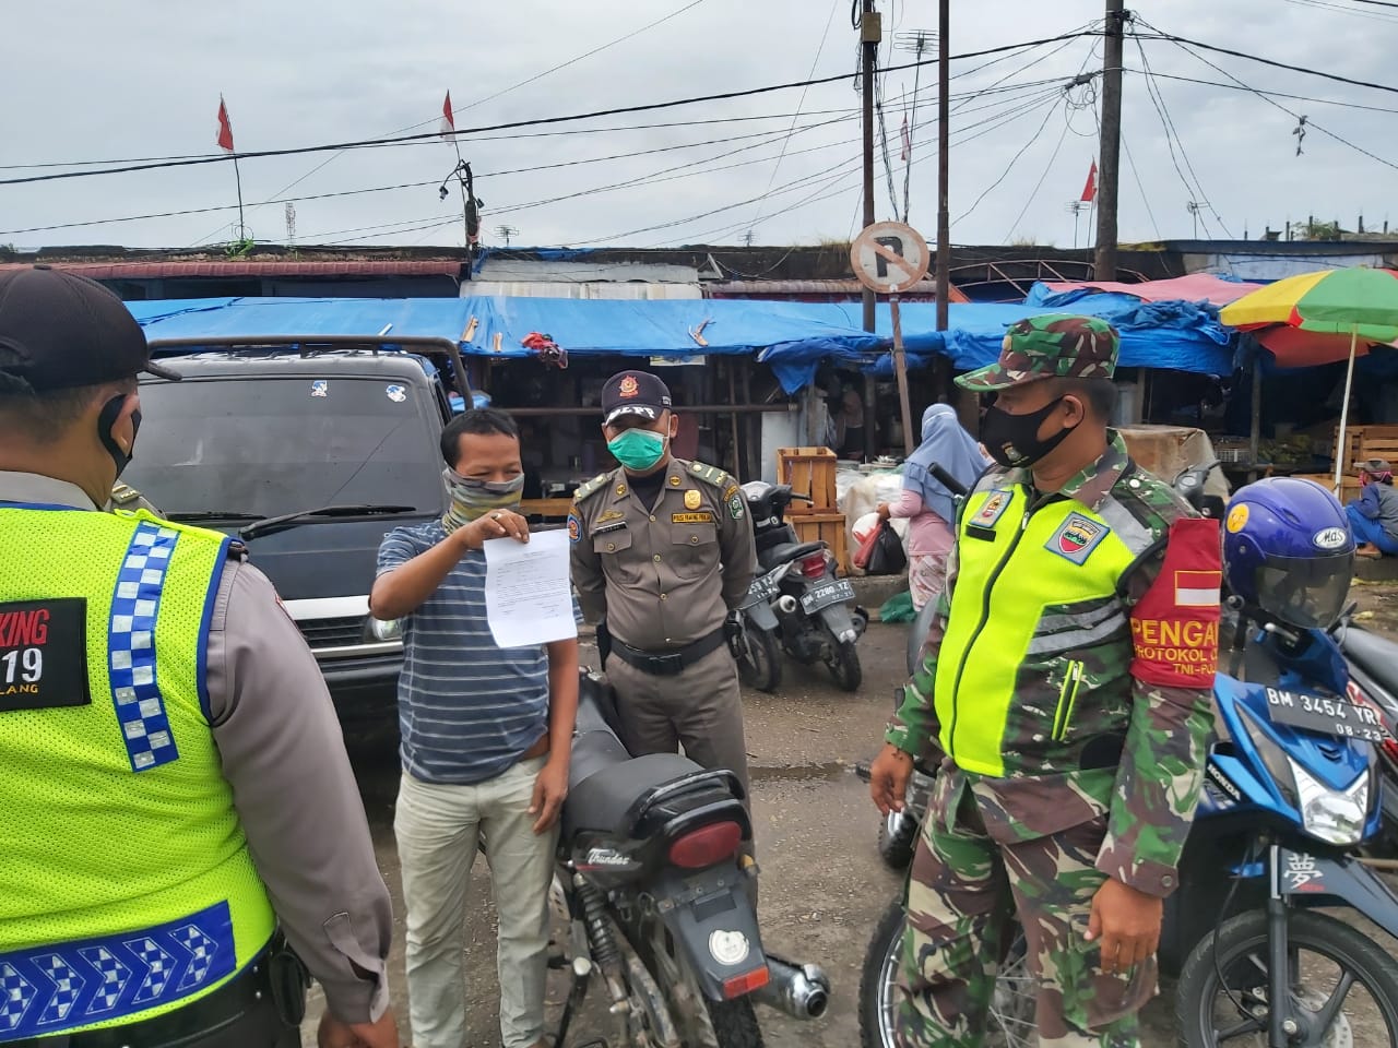
[[[568,534],[583,615],[605,615],[612,637],[642,651],[682,648],[720,629],[758,569],[738,482],[682,458],[670,461],[653,507],[624,470],[589,481]]]

